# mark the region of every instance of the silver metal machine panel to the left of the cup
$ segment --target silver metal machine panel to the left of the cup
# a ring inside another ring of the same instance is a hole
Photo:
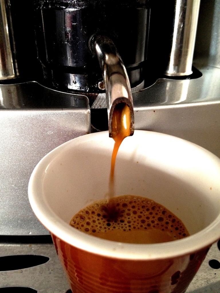
[[[48,234],[30,207],[29,178],[45,154],[90,132],[88,100],[51,90],[49,97],[46,88],[30,83],[1,85],[0,102],[0,235]]]

